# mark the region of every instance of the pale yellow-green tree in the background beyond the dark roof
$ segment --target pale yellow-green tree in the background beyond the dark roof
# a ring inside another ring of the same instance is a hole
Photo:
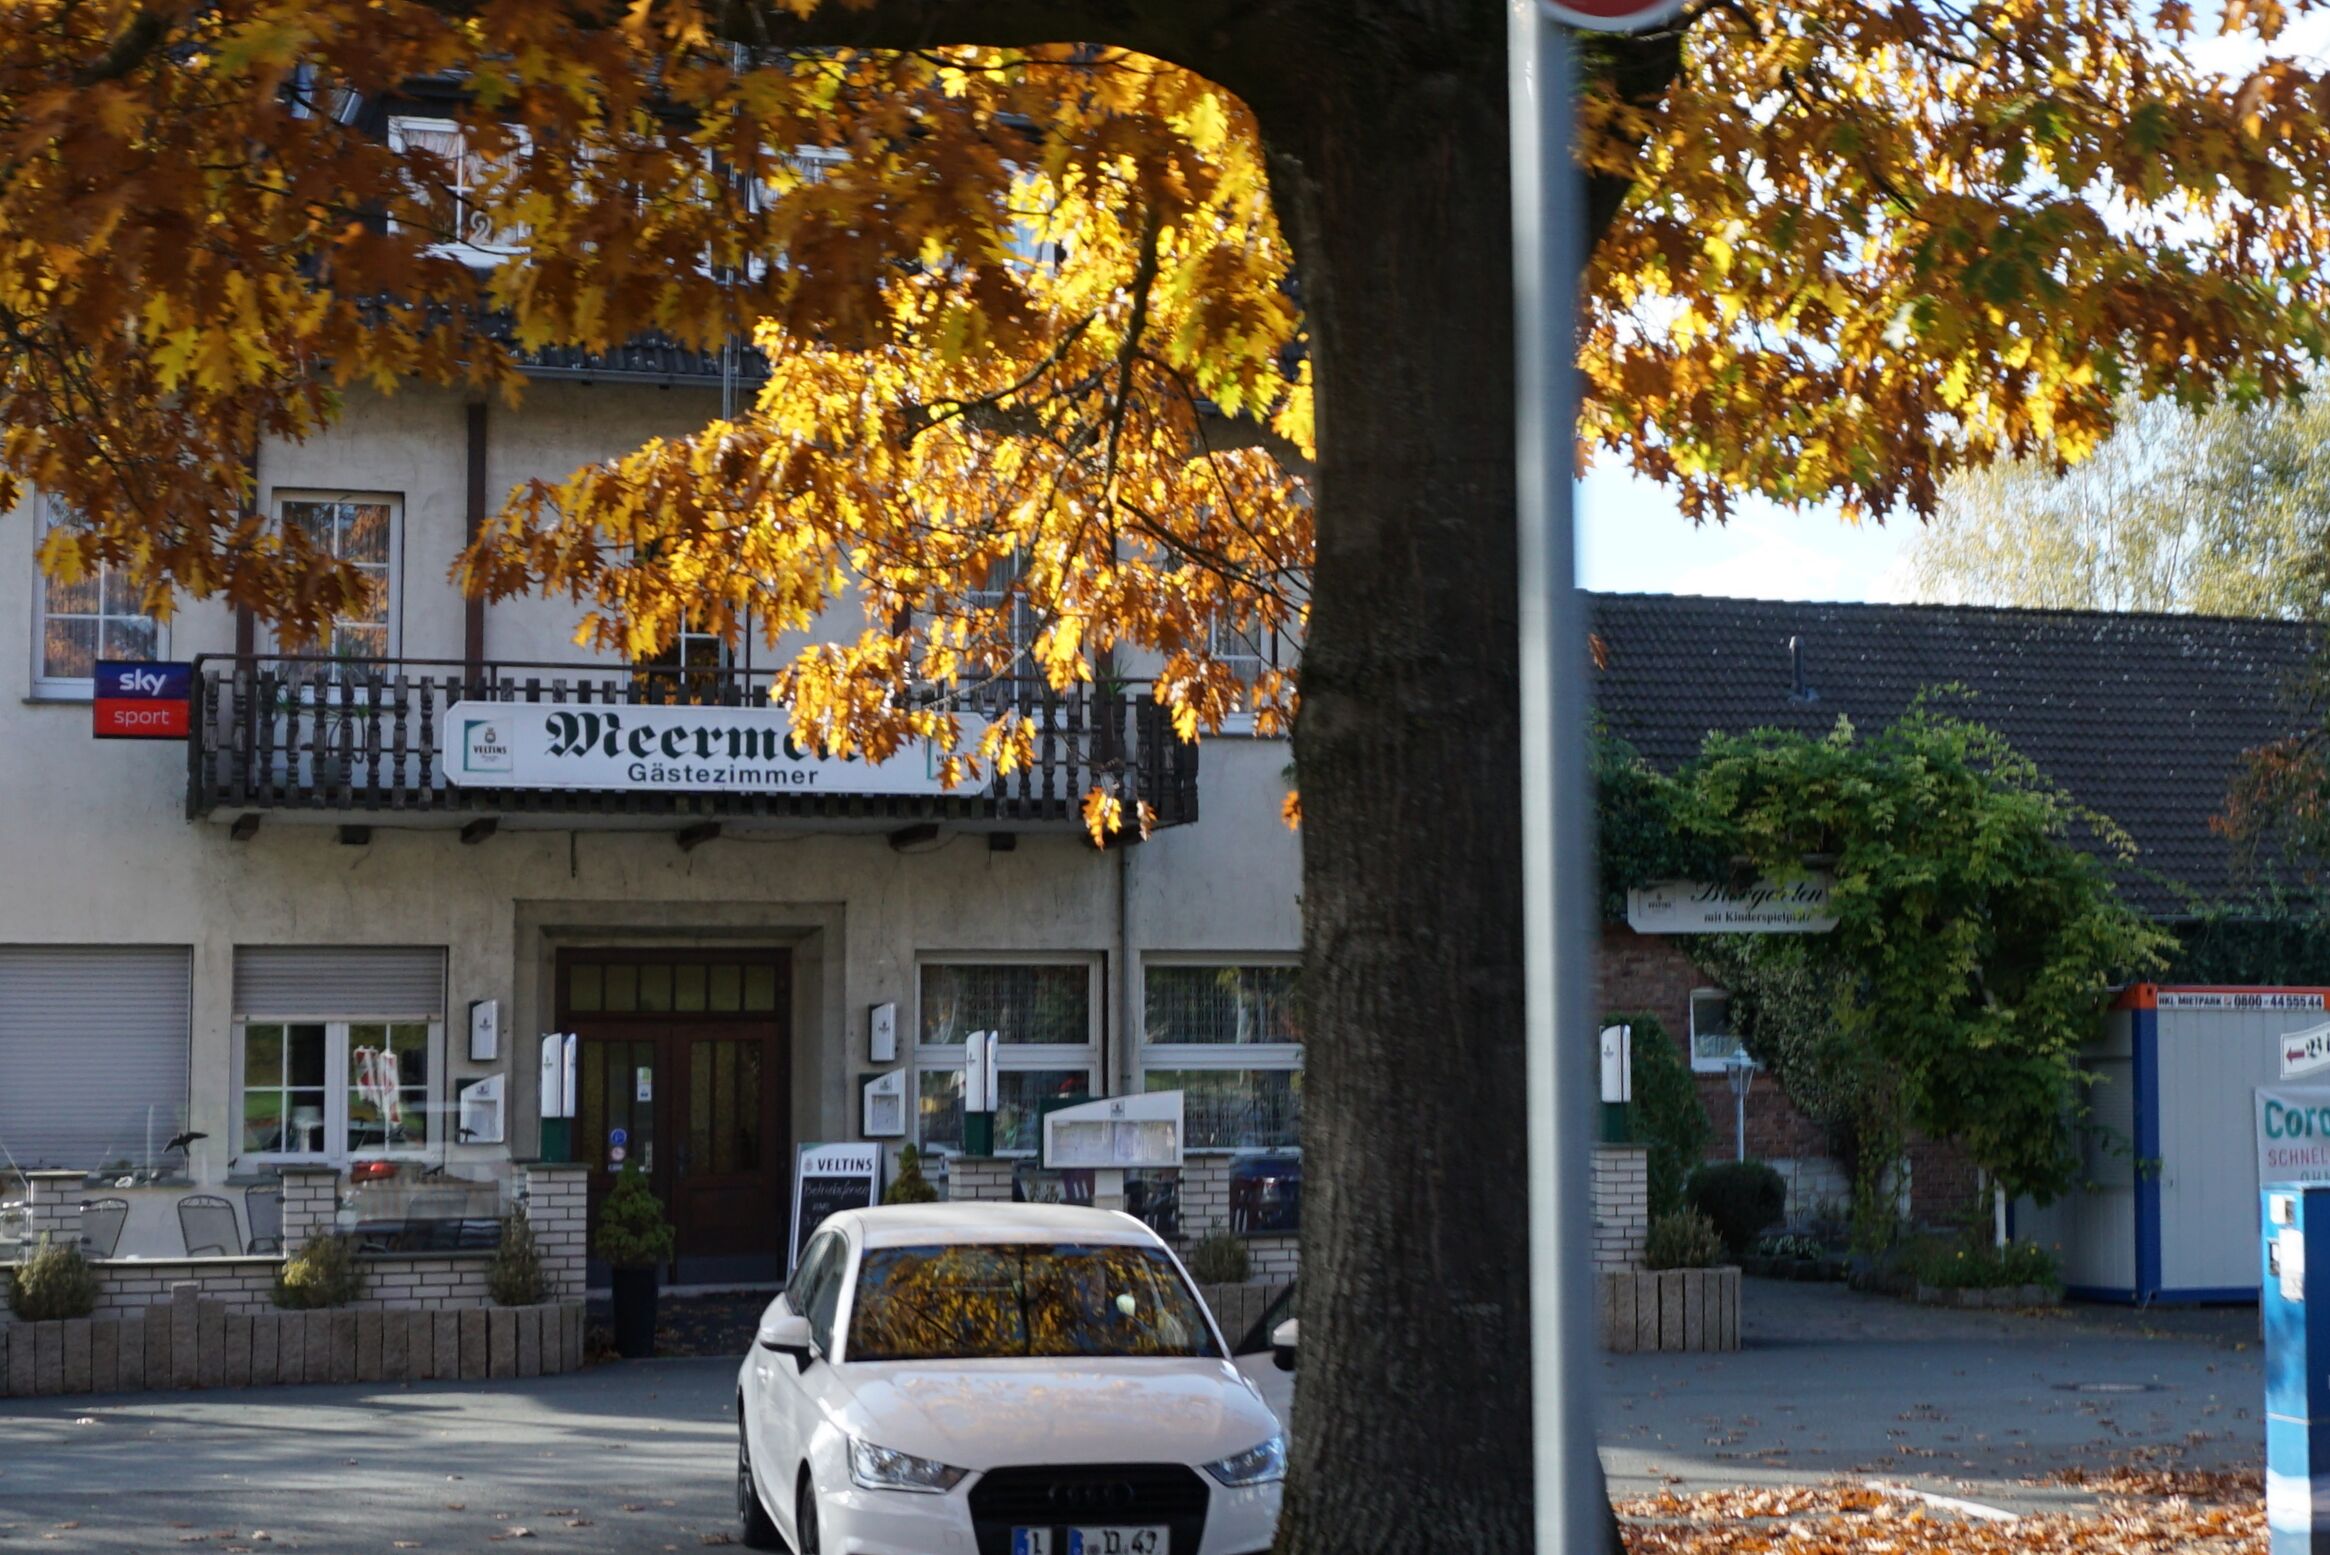
[[[1911,541],[1920,599],[2304,615],[2330,546],[2330,401],[2120,406],[2092,455],[1962,471]]]

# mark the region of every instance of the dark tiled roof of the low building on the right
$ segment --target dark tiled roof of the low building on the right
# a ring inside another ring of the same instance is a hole
[[[1824,734],[1838,716],[1869,730],[1927,685],[1964,685],[1962,716],[2127,828],[2139,849],[2127,888],[2162,914],[2174,893],[2146,870],[2202,895],[2237,888],[2209,818],[2244,751],[2304,727],[2297,678],[2314,650],[2314,627],[2218,615],[1680,594],[1589,594],[1589,611],[1608,655],[1594,704],[1661,769],[1708,732]],[[1789,639],[1803,643],[1810,699],[1792,695]]]

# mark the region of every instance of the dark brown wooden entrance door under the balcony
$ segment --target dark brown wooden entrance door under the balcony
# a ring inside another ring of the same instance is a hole
[[[683,1285],[785,1275],[788,970],[783,951],[559,956],[592,1224],[615,1170],[638,1166],[678,1233],[666,1278]]]

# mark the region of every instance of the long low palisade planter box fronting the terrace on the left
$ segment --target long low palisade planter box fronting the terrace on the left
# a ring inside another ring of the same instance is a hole
[[[464,1320],[471,1327],[492,1320],[510,1343],[499,1350],[466,1345]],[[527,1371],[529,1361],[534,1371]],[[580,1366],[580,1301],[492,1313],[235,1313],[184,1285],[179,1299],[119,1317],[0,1322],[0,1396],[431,1378],[468,1382]]]

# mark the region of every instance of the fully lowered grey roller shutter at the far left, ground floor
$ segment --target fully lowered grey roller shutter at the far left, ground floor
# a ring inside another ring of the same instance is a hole
[[[158,1163],[186,1126],[193,951],[0,947],[0,1161]]]

